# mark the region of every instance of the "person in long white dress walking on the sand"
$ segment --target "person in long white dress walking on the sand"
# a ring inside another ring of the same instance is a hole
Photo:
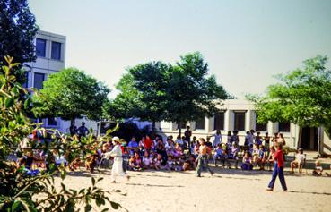
[[[114,148],[109,152],[109,155],[114,157],[114,164],[111,169],[111,182],[116,182],[116,176],[126,176],[127,180],[129,180],[130,176],[123,172],[123,158],[120,140],[118,137],[114,137],[112,140],[114,143]]]

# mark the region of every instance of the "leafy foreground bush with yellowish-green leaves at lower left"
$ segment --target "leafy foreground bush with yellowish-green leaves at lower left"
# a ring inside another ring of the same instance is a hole
[[[99,147],[101,140],[108,140],[112,130],[107,131],[105,137],[95,138],[89,134],[86,138],[78,140],[77,137],[69,137],[58,131],[46,131],[39,129],[38,125],[30,123],[30,120],[22,112],[22,107],[30,105],[30,95],[27,89],[15,81],[11,71],[18,64],[13,64],[13,58],[6,56],[7,66],[3,66],[4,74],[0,74],[0,211],[91,211],[91,201],[95,201],[98,207],[107,202],[112,208],[120,208],[118,203],[109,199],[108,193],[97,187],[101,179],[91,179],[92,185],[80,191],[67,189],[61,183],[61,189],[56,189],[55,174],[61,174],[65,179],[65,167],[54,164],[54,154],[64,155],[68,163],[74,158],[91,153],[94,147]],[[22,96],[24,98],[22,98]],[[22,100],[25,99],[25,100]],[[17,169],[13,162],[6,159],[9,148],[17,146],[18,142],[27,138],[33,129],[43,132],[44,136],[50,135],[53,141],[31,141],[31,149],[42,149],[47,157],[49,170],[42,171],[37,176],[30,176],[24,167]],[[83,155],[82,155],[83,153]]]

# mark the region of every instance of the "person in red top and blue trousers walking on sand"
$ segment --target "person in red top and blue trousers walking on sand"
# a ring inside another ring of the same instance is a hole
[[[269,182],[266,191],[274,191],[274,182],[279,177],[279,181],[282,184],[283,191],[287,191],[285,177],[283,175],[283,146],[277,144],[277,151],[274,153],[274,172],[271,181]]]

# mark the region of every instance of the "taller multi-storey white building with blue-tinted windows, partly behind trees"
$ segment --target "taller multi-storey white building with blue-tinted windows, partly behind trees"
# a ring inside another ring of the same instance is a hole
[[[48,75],[56,73],[65,68],[65,47],[66,38],[48,31],[39,30],[35,38],[37,60],[33,63],[24,64],[28,81],[23,84],[25,88],[42,89],[43,81],[48,79]],[[86,119],[77,120],[79,126],[81,122],[86,123],[87,128],[97,129],[97,123]],[[54,128],[59,131],[69,132],[70,122],[63,121],[57,117],[49,117],[41,120],[43,127]]]

